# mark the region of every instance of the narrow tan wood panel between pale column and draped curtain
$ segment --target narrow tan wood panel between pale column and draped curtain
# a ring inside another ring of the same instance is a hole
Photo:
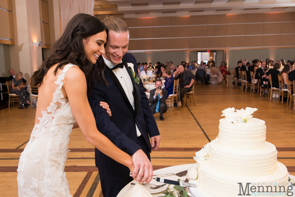
[[[49,27],[49,12],[48,1],[39,0],[40,7],[40,28],[42,36],[42,48],[50,48],[50,27]]]

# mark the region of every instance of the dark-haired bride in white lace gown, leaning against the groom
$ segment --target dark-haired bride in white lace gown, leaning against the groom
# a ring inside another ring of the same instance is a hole
[[[99,19],[75,15],[33,74],[39,98],[35,127],[19,159],[19,196],[71,196],[64,167],[72,128],[80,127],[90,144],[133,172],[132,157],[97,130],[87,100],[96,61],[101,64],[95,77],[106,82],[101,55],[107,32]],[[108,105],[101,105],[111,115]]]

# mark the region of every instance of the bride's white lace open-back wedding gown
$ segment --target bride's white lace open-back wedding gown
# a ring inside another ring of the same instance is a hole
[[[18,165],[19,196],[71,196],[65,177],[65,160],[73,123],[76,122],[71,106],[63,97],[61,88],[65,73],[73,64],[67,64],[54,82],[55,92],[50,106],[31,133]]]

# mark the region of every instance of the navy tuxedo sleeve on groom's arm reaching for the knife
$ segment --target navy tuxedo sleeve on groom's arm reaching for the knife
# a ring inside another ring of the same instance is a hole
[[[96,121],[96,127],[99,132],[112,141],[112,143],[114,143],[119,149],[129,155],[133,155],[138,149],[141,149],[141,147],[132,139],[129,139],[114,125],[114,123],[112,123],[112,121],[110,121],[109,114],[100,106],[100,101],[104,102],[104,94],[98,88],[99,86],[99,82],[96,83],[96,86],[92,85],[92,91],[88,97]]]

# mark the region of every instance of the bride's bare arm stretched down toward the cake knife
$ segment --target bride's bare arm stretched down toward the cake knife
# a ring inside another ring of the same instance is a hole
[[[87,84],[84,73],[78,67],[71,67],[63,81],[73,115],[86,140],[115,161],[134,170],[132,157],[115,146],[96,128],[94,115],[87,99]]]

